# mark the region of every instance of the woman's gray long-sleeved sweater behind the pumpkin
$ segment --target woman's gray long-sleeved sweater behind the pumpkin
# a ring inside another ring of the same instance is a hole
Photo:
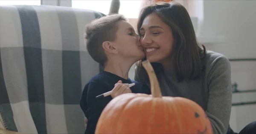
[[[213,133],[226,134],[232,103],[230,61],[224,55],[209,50],[205,60],[205,69],[196,80],[177,83],[165,71],[166,75],[159,79],[161,92],[163,96],[195,101],[208,115]]]

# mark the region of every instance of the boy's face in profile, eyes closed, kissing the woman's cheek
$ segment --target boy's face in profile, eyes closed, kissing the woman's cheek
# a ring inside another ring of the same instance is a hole
[[[136,61],[143,59],[145,52],[140,44],[140,36],[135,33],[131,24],[121,20],[116,25],[118,26],[116,40],[112,43],[117,48],[119,55]]]

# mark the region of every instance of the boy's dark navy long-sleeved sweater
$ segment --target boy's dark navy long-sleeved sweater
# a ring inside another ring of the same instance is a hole
[[[95,133],[100,114],[105,106],[112,100],[111,95],[105,98],[96,98],[96,96],[111,91],[119,80],[121,80],[122,83],[135,83],[135,85],[130,88],[133,93],[150,94],[150,90],[147,87],[143,87],[143,84],[132,81],[130,78],[124,79],[106,71],[95,75],[85,85],[80,100],[81,109],[88,120],[85,134]]]

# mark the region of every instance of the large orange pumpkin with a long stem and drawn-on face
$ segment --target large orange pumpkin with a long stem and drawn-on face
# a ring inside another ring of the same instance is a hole
[[[162,97],[154,70],[143,61],[151,95],[123,94],[105,107],[96,134],[212,134],[204,110],[192,100]]]

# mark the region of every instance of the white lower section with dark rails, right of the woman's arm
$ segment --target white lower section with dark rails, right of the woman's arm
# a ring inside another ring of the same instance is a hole
[[[231,60],[230,64],[232,83],[241,91],[232,95],[232,103],[237,105],[232,106],[230,115],[230,127],[238,133],[256,121],[256,92],[252,91],[256,89],[256,60]]]

